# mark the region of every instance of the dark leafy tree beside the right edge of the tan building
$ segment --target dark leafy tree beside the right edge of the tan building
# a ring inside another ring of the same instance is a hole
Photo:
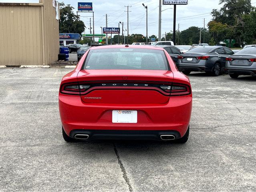
[[[85,24],[80,20],[80,17],[74,14],[74,7],[69,4],[65,6],[62,2],[60,5],[60,20],[59,31],[60,33],[79,33],[85,31]]]

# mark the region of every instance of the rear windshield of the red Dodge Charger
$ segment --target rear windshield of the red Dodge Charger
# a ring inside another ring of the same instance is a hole
[[[90,50],[84,69],[168,70],[163,50],[101,48]]]

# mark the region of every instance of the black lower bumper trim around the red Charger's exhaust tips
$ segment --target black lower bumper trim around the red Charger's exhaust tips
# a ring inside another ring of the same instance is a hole
[[[148,131],[148,130],[72,130],[69,134],[74,138],[76,134],[89,135],[88,140],[159,140],[161,135],[173,135],[175,139],[181,136],[178,131]]]

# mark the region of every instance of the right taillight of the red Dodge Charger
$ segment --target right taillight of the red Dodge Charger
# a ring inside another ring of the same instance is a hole
[[[170,92],[170,96],[183,96],[191,94],[190,86],[185,84],[172,84],[170,86],[160,86],[165,92]]]

